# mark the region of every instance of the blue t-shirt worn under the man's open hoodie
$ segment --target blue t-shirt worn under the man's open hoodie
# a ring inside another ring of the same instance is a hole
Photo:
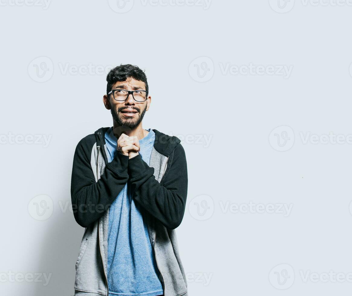
[[[139,140],[139,154],[149,165],[155,133]],[[117,153],[117,138],[112,127],[105,134],[108,162]],[[110,295],[156,296],[163,294],[147,224],[139,204],[131,198],[129,182],[109,210],[107,277]]]

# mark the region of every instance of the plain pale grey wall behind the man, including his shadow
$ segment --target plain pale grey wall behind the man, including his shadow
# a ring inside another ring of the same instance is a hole
[[[189,295],[350,295],[352,3],[304,1],[1,0],[0,294],[73,295],[74,150],[112,125],[100,68],[132,63],[152,95],[143,127],[189,137],[177,228]],[[271,213],[280,205],[293,207]],[[36,273],[49,284],[20,278]]]

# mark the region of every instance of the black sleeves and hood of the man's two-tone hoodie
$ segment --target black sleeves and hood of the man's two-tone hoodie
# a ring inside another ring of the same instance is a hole
[[[88,227],[111,206],[128,181],[132,198],[167,229],[175,229],[182,221],[187,199],[187,162],[180,139],[155,132],[154,148],[167,157],[165,174],[159,183],[150,167],[139,154],[129,159],[121,152],[108,163],[105,149],[105,171],[98,181],[92,171],[94,147],[105,147],[102,127],[77,144],[71,177],[71,201],[75,220]]]

